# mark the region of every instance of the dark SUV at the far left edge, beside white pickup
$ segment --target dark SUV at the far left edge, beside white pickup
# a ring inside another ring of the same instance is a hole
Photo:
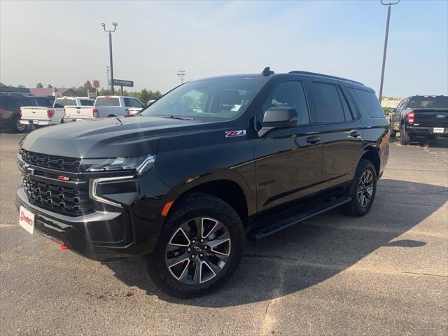
[[[27,129],[27,125],[20,123],[21,106],[52,106],[53,100],[48,97],[27,97],[23,95],[0,95],[0,128],[9,127],[13,132],[20,133]]]

